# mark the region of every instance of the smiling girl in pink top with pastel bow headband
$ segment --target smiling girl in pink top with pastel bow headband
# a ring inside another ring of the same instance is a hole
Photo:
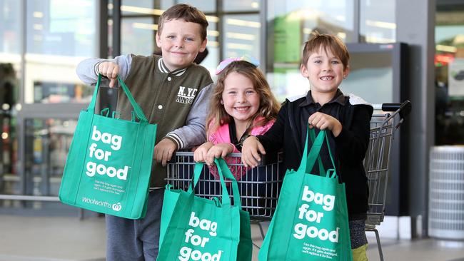
[[[258,66],[258,61],[250,56],[219,63],[218,82],[206,118],[208,141],[195,150],[193,158],[197,162],[213,165],[214,158],[240,153],[243,140],[266,133],[276,121],[280,103]],[[232,173],[239,180],[246,168],[237,168]]]

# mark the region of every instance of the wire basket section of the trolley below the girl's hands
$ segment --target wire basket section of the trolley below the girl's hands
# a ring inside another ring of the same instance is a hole
[[[241,153],[231,153],[226,158],[229,169],[238,179],[242,209],[250,213],[251,223],[258,225],[261,237],[264,231],[261,222],[271,220],[277,207],[279,191],[281,190],[284,171],[282,167],[282,154],[261,156],[261,162],[256,168],[246,168],[241,163]],[[167,165],[168,184],[175,189],[187,190],[193,178],[195,160],[191,152],[177,152]],[[204,167],[196,185],[195,195],[203,198],[221,196],[221,182],[214,178],[216,166]],[[226,180],[226,185],[228,185]],[[228,185],[228,188],[230,186]],[[232,195],[229,191],[229,195]],[[231,196],[231,200],[233,200]],[[254,244],[256,247],[258,245]]]

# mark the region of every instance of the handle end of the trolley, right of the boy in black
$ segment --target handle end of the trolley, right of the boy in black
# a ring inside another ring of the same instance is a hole
[[[400,128],[410,110],[410,101],[375,104],[370,121],[370,140],[364,158],[369,185],[369,209],[365,220],[365,231],[375,232],[381,261],[383,261],[383,252],[376,226],[383,222],[385,215],[390,148],[395,138],[395,131]]]

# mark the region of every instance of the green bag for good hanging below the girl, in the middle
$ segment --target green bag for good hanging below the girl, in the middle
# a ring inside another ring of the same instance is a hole
[[[238,185],[223,159],[216,159],[221,201],[194,194],[203,169],[196,163],[188,191],[166,186],[156,260],[251,260],[250,217],[241,210]],[[223,178],[231,180],[233,205]]]

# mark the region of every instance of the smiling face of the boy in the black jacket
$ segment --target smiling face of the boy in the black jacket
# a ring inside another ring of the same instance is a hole
[[[301,75],[308,78],[311,93],[335,93],[346,78],[349,68],[343,68],[340,58],[330,48],[319,48],[311,53],[306,64],[300,67]]]

